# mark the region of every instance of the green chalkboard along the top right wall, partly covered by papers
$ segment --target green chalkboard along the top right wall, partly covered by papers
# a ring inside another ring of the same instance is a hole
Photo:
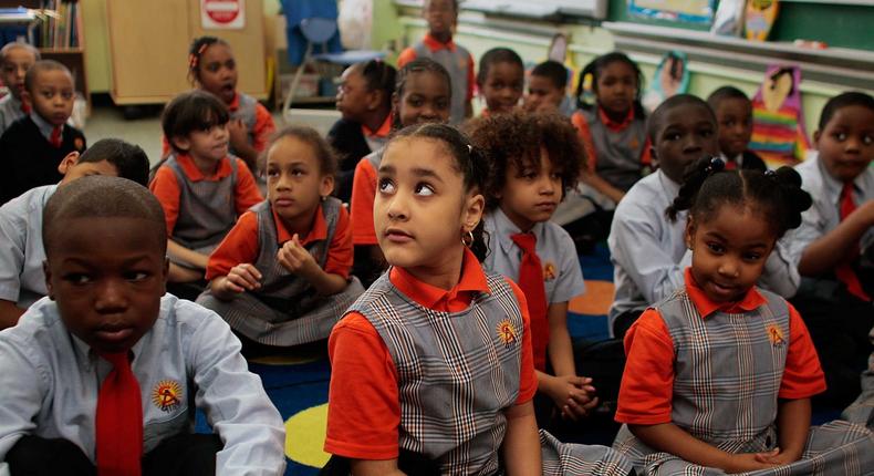
[[[655,20],[628,13],[627,0],[610,0],[607,18],[686,30],[708,31],[708,25]],[[830,46],[874,50],[874,7],[783,1],[770,41],[815,40]]]

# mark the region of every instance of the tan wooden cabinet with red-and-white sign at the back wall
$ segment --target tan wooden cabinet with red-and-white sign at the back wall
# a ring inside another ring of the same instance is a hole
[[[238,90],[267,99],[263,3],[242,1],[240,30],[205,30],[200,0],[107,0],[112,63],[111,95],[116,104],[166,103],[191,89],[188,46],[197,37],[227,41],[239,72]]]

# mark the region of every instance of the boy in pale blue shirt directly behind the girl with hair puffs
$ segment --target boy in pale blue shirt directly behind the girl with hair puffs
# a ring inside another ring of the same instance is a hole
[[[647,135],[658,169],[635,184],[616,207],[607,246],[616,286],[610,329],[618,339],[651,304],[683,286],[686,256],[683,220],[669,223],[664,210],[674,201],[684,169],[718,153],[717,125],[706,102],[678,94],[649,116]],[[794,294],[799,275],[781,240],[766,266],[762,287],[783,297]]]

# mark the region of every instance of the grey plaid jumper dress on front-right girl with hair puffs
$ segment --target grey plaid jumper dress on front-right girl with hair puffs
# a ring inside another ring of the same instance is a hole
[[[716,311],[701,319],[686,288],[655,306],[674,342],[672,423],[728,453],[758,453],[778,444],[778,392],[789,351],[789,307],[779,296],[755,311]],[[769,338],[777,325],[781,339]],[[638,474],[722,475],[725,472],[657,452],[627,425],[613,447]],[[874,436],[846,422],[813,426],[801,459],[755,475],[863,475],[874,472]]]

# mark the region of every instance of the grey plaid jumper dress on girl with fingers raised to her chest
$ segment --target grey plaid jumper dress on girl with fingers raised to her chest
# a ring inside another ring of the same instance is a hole
[[[306,246],[322,269],[341,206],[334,197],[322,203],[327,234],[324,240]],[[217,299],[207,289],[197,298],[197,303],[216,311],[233,330],[262,344],[288,346],[326,339],[343,311],[364,288],[352,277],[339,293],[319,296],[309,281],[298,278],[277,260],[280,245],[270,201],[264,200],[251,210],[258,217],[259,251],[253,265],[261,271],[261,288],[242,292],[230,301]]]

